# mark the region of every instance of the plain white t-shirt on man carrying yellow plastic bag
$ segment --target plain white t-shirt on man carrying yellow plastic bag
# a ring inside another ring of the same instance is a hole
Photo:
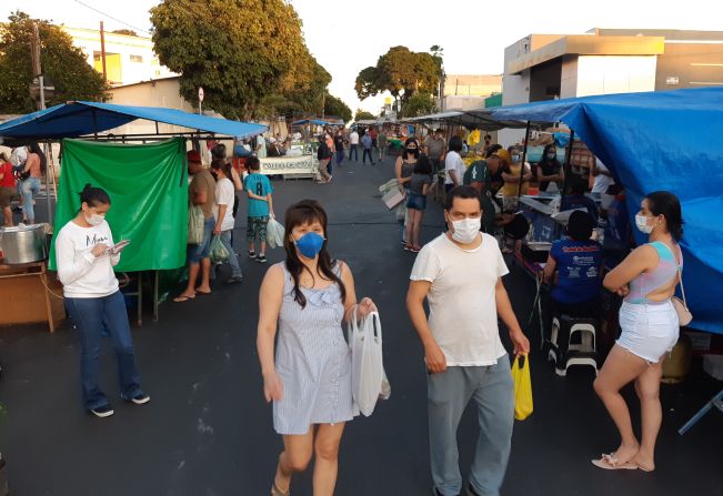
[[[448,366],[489,366],[506,354],[500,341],[495,285],[508,274],[494,237],[480,233],[482,243],[462,250],[446,234],[422,247],[412,281],[432,283],[426,300],[429,326]]]

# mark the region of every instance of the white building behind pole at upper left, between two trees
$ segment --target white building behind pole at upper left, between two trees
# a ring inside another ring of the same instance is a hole
[[[88,63],[98,72],[103,71],[100,30],[61,27],[87,57]],[[106,31],[106,74],[111,85],[132,84],[151,79],[178,75],[161,65],[153,52],[153,40],[144,37],[118,34]]]

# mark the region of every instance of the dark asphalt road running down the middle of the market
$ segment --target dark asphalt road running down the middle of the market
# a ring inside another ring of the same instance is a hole
[[[347,165],[334,172],[330,185],[274,182],[278,211],[303,198],[315,198],[328,207],[332,253],[350,264],[358,294],[371,295],[383,320],[392,398],[372,417],[349,425],[340,455],[341,496],[426,495],[431,487],[422,350],[403,304],[413,255],[401,250],[399,225],[376,192],[391,175],[386,160],[373,169]],[[244,215],[242,206],[239,242]],[[442,224],[441,210],[432,206],[424,239],[440,233]],[[239,252],[245,252],[243,246]],[[279,251],[270,254],[271,263],[279,260]],[[255,353],[257,291],[264,267],[245,257],[242,267],[242,285],[219,285],[212,295],[184,304],[165,303],[160,322],[149,318],[133,331],[152,402],[135,407],[118,399],[116,415],[108,419],[88,417],[80,407],[79,353],[69,326],[54,335],[41,326],[0,330],[0,402],[9,409],[0,424],[0,448],[9,463],[12,493],[269,494],[281,443],[272,431],[271,408],[262,399]],[[532,282],[513,270],[505,284],[515,311],[526,320]],[[531,337],[536,346],[539,337]],[[583,368],[560,378],[540,353],[531,363],[535,413],[515,425],[505,495],[723,494],[720,414],[709,414],[683,437],[675,433],[720,384],[696,375],[683,386],[663,386],[659,472],[613,473],[589,462],[616,443],[592,392],[592,372]],[[117,394],[110,350],[103,384],[111,397]],[[465,470],[476,439],[470,412],[459,439]],[[294,479],[293,494],[311,495],[310,474]]]

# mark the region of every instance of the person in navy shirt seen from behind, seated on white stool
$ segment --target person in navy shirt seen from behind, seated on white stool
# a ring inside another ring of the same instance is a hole
[[[580,317],[594,317],[598,314],[603,249],[590,239],[593,223],[588,212],[576,210],[570,215],[568,236],[552,243],[544,277],[552,281],[555,273],[558,277],[548,302],[549,323],[554,313]],[[558,336],[558,343],[566,342],[564,336]]]

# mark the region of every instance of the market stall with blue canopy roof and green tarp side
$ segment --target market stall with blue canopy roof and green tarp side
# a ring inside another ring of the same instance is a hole
[[[157,124],[174,124],[188,131],[172,134],[157,132],[151,135],[112,133],[113,129],[137,119],[154,121]],[[114,204],[109,214],[114,235],[133,240],[124,251],[118,270],[134,275],[129,286],[134,287],[134,291],[127,291],[125,294],[138,304],[140,324],[143,281],[150,279],[153,315],[157,317],[159,279],[163,279],[167,273],[175,274],[177,269],[184,264],[188,215],[185,139],[200,140],[201,133],[243,139],[254,136],[265,129],[259,124],[173,109],[69,102],[8,121],[0,125],[0,136],[18,141],[86,138],[63,142],[63,172],[56,230],[77,211],[77,193],[86,182],[109,191]],[[178,138],[169,140],[172,135]],[[93,141],[88,141],[89,139]],[[131,142],[148,144],[130,144]],[[52,270],[52,250],[50,254]],[[44,270],[46,261],[41,262]],[[169,284],[172,283],[171,277]],[[3,282],[0,281],[0,284]]]

